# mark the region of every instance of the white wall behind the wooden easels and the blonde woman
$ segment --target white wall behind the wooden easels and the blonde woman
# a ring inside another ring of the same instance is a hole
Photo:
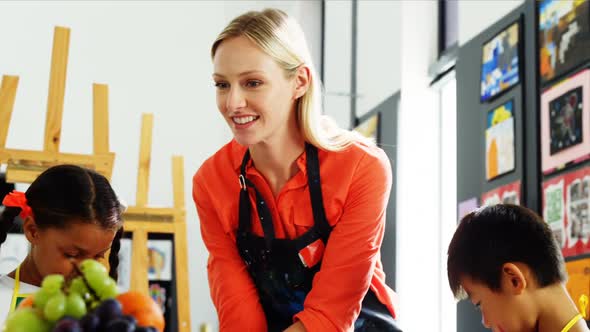
[[[214,325],[206,278],[207,252],[191,196],[201,163],[230,139],[215,106],[209,48],[234,16],[277,7],[302,22],[320,54],[320,4],[307,1],[1,2],[0,74],[20,84],[7,147],[43,146],[53,27],[72,29],[61,151],[92,151],[92,83],[110,89],[113,186],[135,202],[141,113],[154,113],[149,202],[172,205],[171,156],[185,157],[193,331]]]

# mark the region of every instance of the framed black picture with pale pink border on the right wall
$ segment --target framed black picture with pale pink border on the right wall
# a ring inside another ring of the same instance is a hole
[[[541,164],[548,174],[590,157],[590,70],[541,94]]]

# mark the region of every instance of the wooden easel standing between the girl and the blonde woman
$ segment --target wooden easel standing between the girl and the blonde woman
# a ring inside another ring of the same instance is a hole
[[[190,302],[187,271],[186,210],[184,203],[184,159],[172,157],[172,185],[174,207],[147,207],[152,148],[153,115],[143,114],[141,121],[141,143],[139,170],[137,176],[136,205],[127,208],[123,214],[124,229],[132,233],[131,289],[149,294],[148,282],[148,234],[165,233],[174,235],[174,256],[176,266],[176,308],[178,331],[188,332],[190,326]]]

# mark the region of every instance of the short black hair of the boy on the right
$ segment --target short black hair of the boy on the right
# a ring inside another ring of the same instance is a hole
[[[498,204],[465,216],[448,250],[447,273],[455,297],[465,296],[461,278],[500,290],[502,266],[526,264],[539,287],[566,280],[563,256],[543,219],[518,205]]]

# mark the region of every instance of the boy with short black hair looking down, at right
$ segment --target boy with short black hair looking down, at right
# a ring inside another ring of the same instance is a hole
[[[535,212],[495,205],[465,216],[451,240],[447,271],[493,331],[589,331],[565,288],[560,247]]]

